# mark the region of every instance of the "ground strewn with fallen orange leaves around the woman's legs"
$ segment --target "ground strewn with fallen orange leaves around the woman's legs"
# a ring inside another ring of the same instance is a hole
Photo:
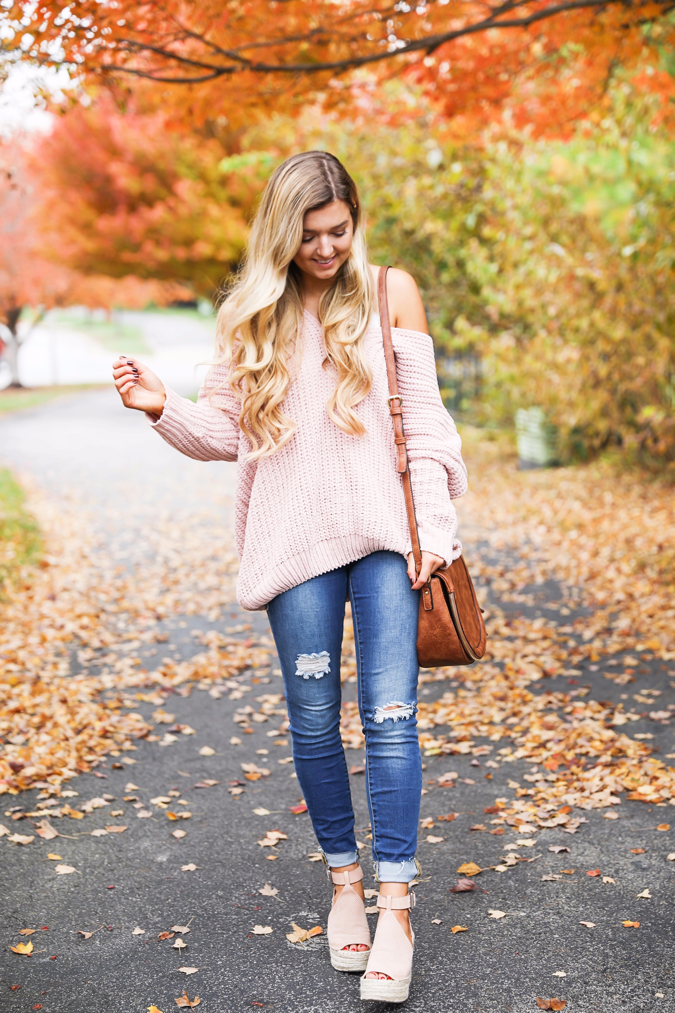
[[[100,395],[89,397],[93,404]],[[57,409],[56,422],[67,410]],[[590,1009],[612,996],[612,972],[617,981],[623,975],[619,992],[632,1008],[651,1009],[673,994],[672,971],[661,963],[661,941],[672,930],[664,891],[675,865],[668,860],[675,824],[672,493],[595,467],[518,472],[508,448],[469,436],[472,491],[459,506],[461,534],[486,606],[489,653],[481,665],[421,677],[426,783],[418,893],[420,904],[426,900],[418,909],[421,951],[409,1008],[435,1002],[437,961],[449,960],[453,969],[439,981],[458,989],[469,1009],[525,1010],[536,1008],[537,997]],[[19,929],[34,929],[34,955],[7,949],[7,1008],[24,1008],[25,985],[36,996],[33,1008],[88,1009],[96,990],[73,992],[47,961],[68,961],[70,977],[101,989],[110,960],[121,967],[133,943],[133,973],[105,986],[108,1008],[122,1008],[123,1000],[166,1013],[181,998],[185,976],[190,997],[201,995],[204,1008],[220,1009],[227,994],[234,1009],[271,1002],[313,1010],[321,996],[326,1009],[356,1009],[350,981],[333,982],[324,966],[325,935],[303,937],[317,925],[325,932],[327,902],[293,781],[265,617],[233,604],[229,521],[216,509],[231,472],[219,472],[203,496],[197,490],[186,498],[186,478],[206,474],[210,481],[214,471],[178,463],[164,448],[157,453],[158,441],[145,430],[137,439],[131,478],[129,467],[110,475],[92,464],[94,510],[91,497],[73,494],[75,486],[64,494],[63,478],[51,484],[35,459],[31,505],[45,551],[0,606],[0,847],[12,874],[7,947],[27,942]],[[343,737],[367,865],[350,625],[347,616]],[[267,867],[258,871],[261,860]],[[164,869],[179,884],[191,875],[201,884],[188,888],[180,910],[174,902],[185,887],[167,886],[170,917],[157,910]],[[474,888],[453,892],[457,873]],[[26,876],[41,884],[37,892]],[[264,892],[267,882],[278,895]],[[549,901],[542,890],[552,891]],[[573,960],[553,942],[560,932],[541,932],[547,910],[572,934],[568,952],[581,945]],[[100,929],[97,918],[105,923]],[[60,942],[37,953],[40,919]],[[582,932],[596,941],[580,940]],[[629,932],[637,942],[625,942]],[[106,941],[110,934],[116,942]],[[185,954],[175,943],[183,938]],[[142,957],[151,941],[156,955]],[[272,949],[262,957],[254,943]],[[618,946],[606,957],[610,970],[588,969],[610,943]],[[625,959],[623,970],[612,960],[625,946],[647,945],[649,981],[630,992]],[[230,971],[223,947],[240,954]],[[512,949],[507,973],[503,961]],[[296,952],[312,961],[316,995],[303,992],[309,968]],[[542,971],[557,952],[560,966]],[[516,956],[522,972],[512,966]],[[195,977],[180,970],[193,964]],[[501,986],[485,980],[493,965],[490,973],[505,976]],[[49,1001],[40,1000],[40,981]],[[21,989],[11,992],[16,985]]]

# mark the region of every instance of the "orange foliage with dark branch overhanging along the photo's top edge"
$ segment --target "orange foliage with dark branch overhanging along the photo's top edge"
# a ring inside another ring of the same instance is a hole
[[[174,121],[235,127],[402,75],[457,126],[565,126],[675,40],[672,0],[5,0],[6,53],[81,80],[151,84]],[[669,75],[660,86],[670,88]],[[652,81],[650,87],[657,82]]]

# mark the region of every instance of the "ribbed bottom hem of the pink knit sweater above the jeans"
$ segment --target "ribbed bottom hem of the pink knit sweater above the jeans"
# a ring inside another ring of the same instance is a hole
[[[340,566],[353,563],[363,556],[369,556],[371,552],[398,552],[405,557],[405,543],[395,539],[383,542],[381,539],[364,538],[362,535],[354,534],[329,538],[270,567],[267,572],[260,574],[260,581],[256,581],[254,587],[251,587],[253,574],[250,571],[247,574],[246,588],[241,586],[240,573],[240,579],[237,581],[237,601],[243,609],[258,612],[277,595],[311,580],[313,576],[339,569]]]

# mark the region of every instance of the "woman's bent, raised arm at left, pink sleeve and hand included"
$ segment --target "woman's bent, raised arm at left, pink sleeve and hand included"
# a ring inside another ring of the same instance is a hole
[[[144,411],[163,440],[196,461],[236,461],[239,451],[239,400],[224,388],[228,368],[215,366],[204,381],[197,403],[180,397],[152,370],[120,356],[113,363],[115,387],[128,408]]]

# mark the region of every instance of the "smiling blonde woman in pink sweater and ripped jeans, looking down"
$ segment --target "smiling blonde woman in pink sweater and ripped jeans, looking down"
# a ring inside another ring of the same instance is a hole
[[[417,286],[392,269],[388,298],[422,548],[416,573],[376,277],[353,180],[332,155],[294,155],[265,189],[245,263],[219,312],[219,364],[197,403],[124,357],[113,375],[124,405],[146,412],[167,443],[197,460],[240,463],[237,598],[246,609],[267,609],[274,635],[296,771],[334,884],[331,961],[365,971],[362,999],[404,1002],[414,941],[408,884],[419,870],[419,589],[461,551],[451,497],[467,483]],[[339,733],[346,599],[379,882],[372,946]]]

